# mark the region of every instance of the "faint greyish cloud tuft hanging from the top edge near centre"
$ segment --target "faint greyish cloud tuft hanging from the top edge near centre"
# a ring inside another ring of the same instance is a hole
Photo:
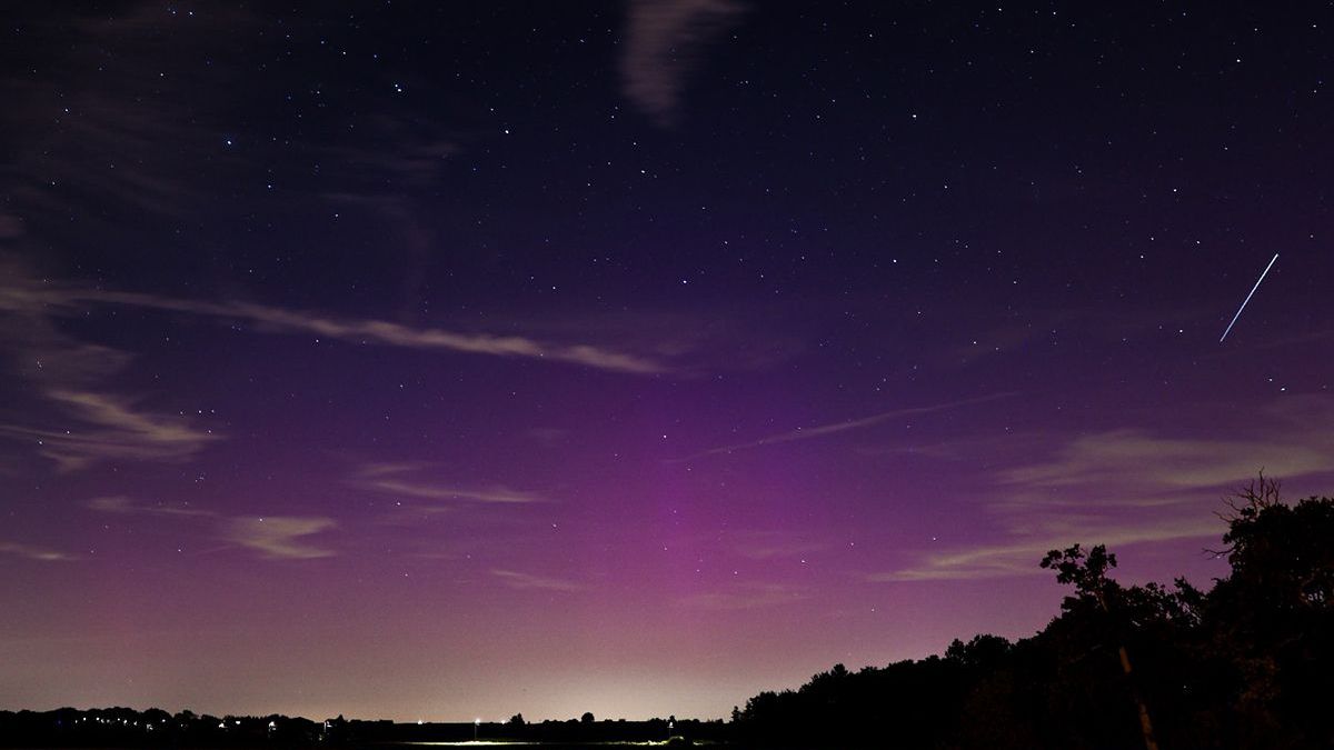
[[[620,60],[626,96],[658,124],[675,123],[686,77],[744,9],[736,0],[630,0]]]

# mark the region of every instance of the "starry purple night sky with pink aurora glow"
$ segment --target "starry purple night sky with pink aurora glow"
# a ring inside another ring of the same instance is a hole
[[[431,5],[7,9],[0,709],[722,717],[1334,490],[1329,4]]]

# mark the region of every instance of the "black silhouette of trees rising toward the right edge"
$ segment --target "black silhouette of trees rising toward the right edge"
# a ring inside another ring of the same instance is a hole
[[[1102,546],[1041,562],[1073,591],[1031,638],[816,674],[734,709],[756,747],[1334,747],[1334,500],[1279,500],[1263,475],[1227,502],[1230,573],[1206,593],[1122,586]]]

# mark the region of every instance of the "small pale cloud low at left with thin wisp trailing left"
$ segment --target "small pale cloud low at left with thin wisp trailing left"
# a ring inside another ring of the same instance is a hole
[[[261,559],[304,560],[328,558],[338,554],[331,548],[316,546],[307,539],[308,536],[338,527],[336,520],[325,516],[228,516],[188,504],[140,503],[124,495],[92,498],[87,506],[97,512],[204,520],[212,526],[217,536],[251,551]]]

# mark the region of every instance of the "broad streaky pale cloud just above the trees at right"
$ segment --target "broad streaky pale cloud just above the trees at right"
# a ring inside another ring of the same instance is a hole
[[[1237,416],[1243,428],[1193,435],[1107,430],[1063,439],[1049,458],[994,475],[986,508],[996,516],[999,540],[930,551],[867,579],[1035,575],[1046,551],[1077,542],[1115,547],[1217,539],[1226,527],[1210,508],[1258,471],[1289,480],[1334,474],[1334,436],[1323,428],[1334,416],[1334,399],[1298,395]]]

